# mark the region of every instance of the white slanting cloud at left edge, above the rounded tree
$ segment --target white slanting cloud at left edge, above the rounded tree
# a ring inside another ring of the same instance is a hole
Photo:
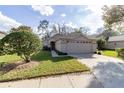
[[[21,23],[9,18],[0,12],[0,31],[7,31],[12,27],[18,27]]]

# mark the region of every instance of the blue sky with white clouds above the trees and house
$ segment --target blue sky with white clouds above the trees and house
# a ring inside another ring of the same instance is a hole
[[[87,26],[90,33],[103,27],[102,5],[1,5],[0,31],[8,31],[20,25],[31,26],[36,30],[40,20],[49,23],[65,23],[71,27]]]

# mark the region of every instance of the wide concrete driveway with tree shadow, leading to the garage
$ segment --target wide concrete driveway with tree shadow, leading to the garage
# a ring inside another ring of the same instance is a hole
[[[76,54],[78,61],[86,64],[92,69],[92,74],[106,88],[124,87],[124,61],[97,55],[97,54]]]

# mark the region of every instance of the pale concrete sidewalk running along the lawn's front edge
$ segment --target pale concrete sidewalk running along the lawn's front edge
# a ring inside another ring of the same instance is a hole
[[[73,73],[30,80],[0,83],[0,88],[101,88],[89,73]]]

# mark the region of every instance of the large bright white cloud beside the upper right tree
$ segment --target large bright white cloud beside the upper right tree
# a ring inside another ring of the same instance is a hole
[[[97,28],[103,27],[102,7],[103,5],[88,5],[85,8],[86,11],[91,13],[81,20],[80,23],[83,26],[88,26],[91,29],[91,33],[95,33]]]

